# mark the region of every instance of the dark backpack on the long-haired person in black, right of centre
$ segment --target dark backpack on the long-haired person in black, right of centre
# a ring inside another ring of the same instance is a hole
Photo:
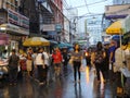
[[[104,50],[95,51],[95,63],[102,63],[104,61]]]

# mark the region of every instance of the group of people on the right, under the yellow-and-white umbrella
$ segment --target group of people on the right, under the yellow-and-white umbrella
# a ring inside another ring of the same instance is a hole
[[[115,40],[105,45],[99,41],[96,48],[91,51],[91,54],[87,58],[87,62],[89,68],[95,68],[98,83],[101,83],[102,73],[104,83],[115,82],[117,93],[122,93],[122,85],[125,84],[122,84],[121,78],[123,78],[125,83],[126,76],[122,75],[120,69],[128,68],[130,71],[130,50],[128,49],[128,41],[122,41],[119,47],[117,47]]]

